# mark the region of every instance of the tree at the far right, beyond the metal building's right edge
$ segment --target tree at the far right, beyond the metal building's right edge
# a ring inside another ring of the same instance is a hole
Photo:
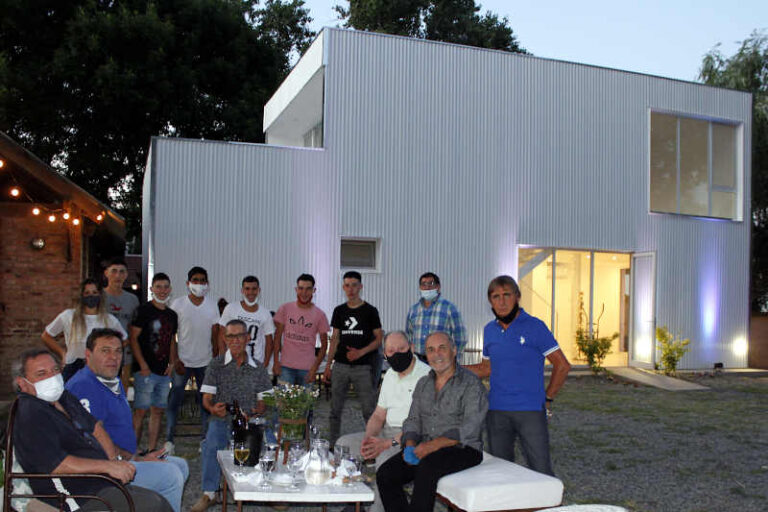
[[[764,311],[768,306],[768,37],[752,32],[731,57],[723,56],[716,46],[704,56],[699,79],[752,93],[750,301],[754,311]]]

